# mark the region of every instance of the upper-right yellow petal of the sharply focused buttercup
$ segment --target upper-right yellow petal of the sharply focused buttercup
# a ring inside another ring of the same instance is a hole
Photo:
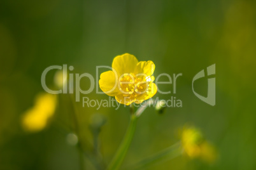
[[[135,69],[135,74],[146,74],[148,76],[152,75],[155,71],[155,64],[152,61],[139,62]]]

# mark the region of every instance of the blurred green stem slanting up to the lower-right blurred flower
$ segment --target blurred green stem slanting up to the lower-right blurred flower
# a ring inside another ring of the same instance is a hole
[[[172,145],[171,147],[168,147],[159,153],[152,155],[146,159],[141,160],[140,162],[127,167],[126,169],[145,169],[146,166],[149,166],[150,164],[154,164],[156,162],[160,162],[161,160],[170,160],[174,159],[182,154],[182,149],[180,146],[180,143],[176,143]]]

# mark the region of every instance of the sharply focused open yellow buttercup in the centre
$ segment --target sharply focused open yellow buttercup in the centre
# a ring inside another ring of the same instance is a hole
[[[135,56],[125,53],[114,58],[112,70],[101,74],[99,87],[124,105],[141,103],[157,93],[154,70],[152,61],[138,62]]]

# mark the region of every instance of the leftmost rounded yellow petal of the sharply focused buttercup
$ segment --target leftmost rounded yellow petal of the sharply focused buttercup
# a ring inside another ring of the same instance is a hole
[[[115,96],[118,94],[117,88],[117,75],[113,71],[103,72],[99,79],[99,88],[109,96]]]

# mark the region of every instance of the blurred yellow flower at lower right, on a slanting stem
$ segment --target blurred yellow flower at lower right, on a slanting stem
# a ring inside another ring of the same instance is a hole
[[[206,162],[214,162],[217,158],[215,148],[204,140],[199,129],[194,127],[184,128],[181,133],[181,144],[188,157],[201,158]]]

